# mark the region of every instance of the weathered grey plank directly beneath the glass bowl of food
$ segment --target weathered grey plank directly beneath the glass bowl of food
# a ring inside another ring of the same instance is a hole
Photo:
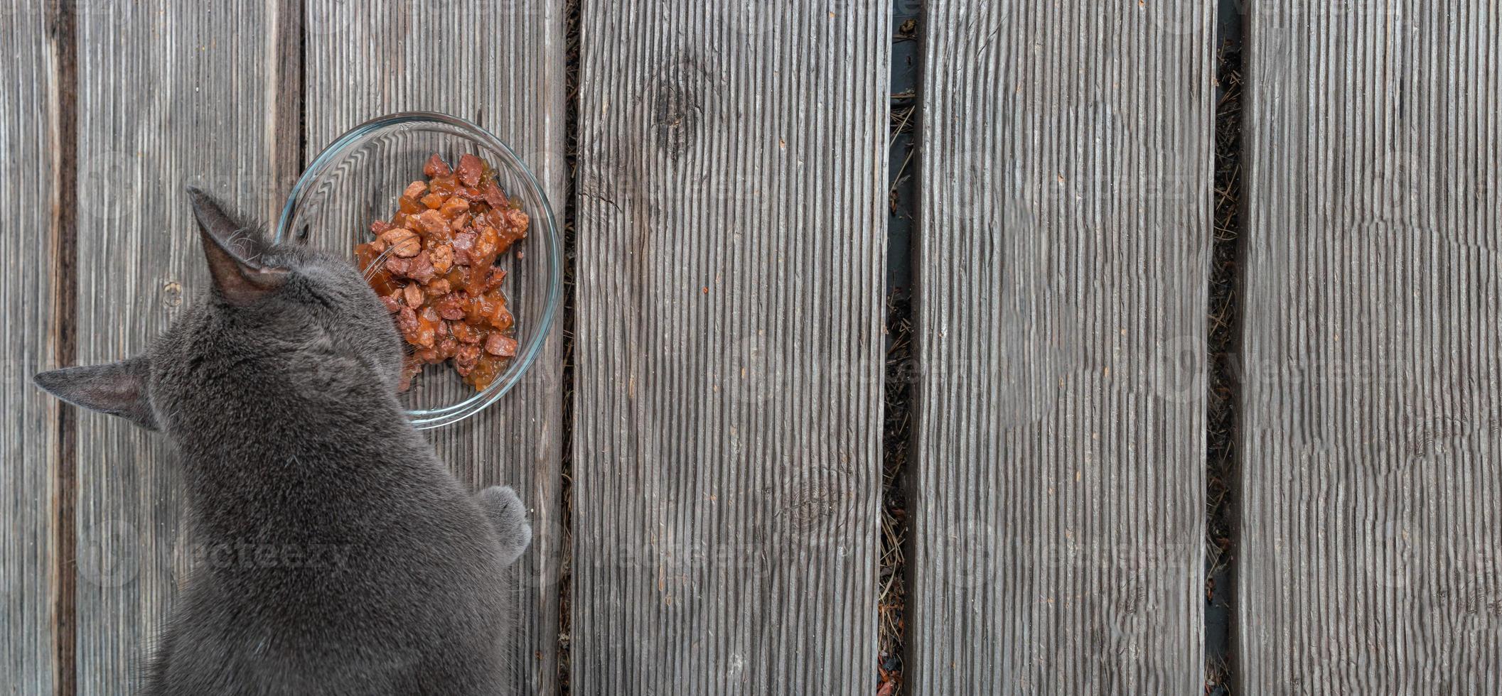
[[[506,141],[562,213],[568,176],[562,0],[311,2],[306,8],[308,158],[377,116],[448,112]],[[500,402],[430,430],[461,480],[476,489],[514,486],[530,506],[535,538],[518,572],[517,693],[553,693],[557,676],[562,370],[557,327],[529,376]]]

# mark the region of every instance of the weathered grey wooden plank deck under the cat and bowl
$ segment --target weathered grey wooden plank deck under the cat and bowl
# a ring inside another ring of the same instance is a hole
[[[1205,693],[1214,3],[921,3],[895,202],[885,0],[33,4],[0,0],[0,693],[123,693],[191,564],[164,441],[29,375],[206,282],[182,186],[273,219],[406,110],[496,132],[571,225],[532,378],[431,434],[532,508],[518,693],[877,692],[894,264],[903,693]],[[1502,12],[1311,4],[1247,16],[1232,674],[1502,693]]]

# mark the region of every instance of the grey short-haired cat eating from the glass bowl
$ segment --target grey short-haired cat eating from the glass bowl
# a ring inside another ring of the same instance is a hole
[[[140,693],[508,693],[517,494],[470,495],[407,423],[401,339],[348,261],[188,194],[213,288],[146,356],[36,375],[182,454],[204,554]]]

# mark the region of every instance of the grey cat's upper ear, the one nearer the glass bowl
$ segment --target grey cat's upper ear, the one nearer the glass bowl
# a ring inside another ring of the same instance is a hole
[[[198,219],[209,274],[221,297],[231,304],[251,304],[287,282],[284,268],[261,262],[270,243],[255,225],[246,225],[198,188],[189,186],[188,198]]]

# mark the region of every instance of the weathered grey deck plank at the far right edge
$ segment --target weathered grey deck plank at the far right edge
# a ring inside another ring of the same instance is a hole
[[[1494,3],[1254,3],[1247,693],[1502,692]]]

